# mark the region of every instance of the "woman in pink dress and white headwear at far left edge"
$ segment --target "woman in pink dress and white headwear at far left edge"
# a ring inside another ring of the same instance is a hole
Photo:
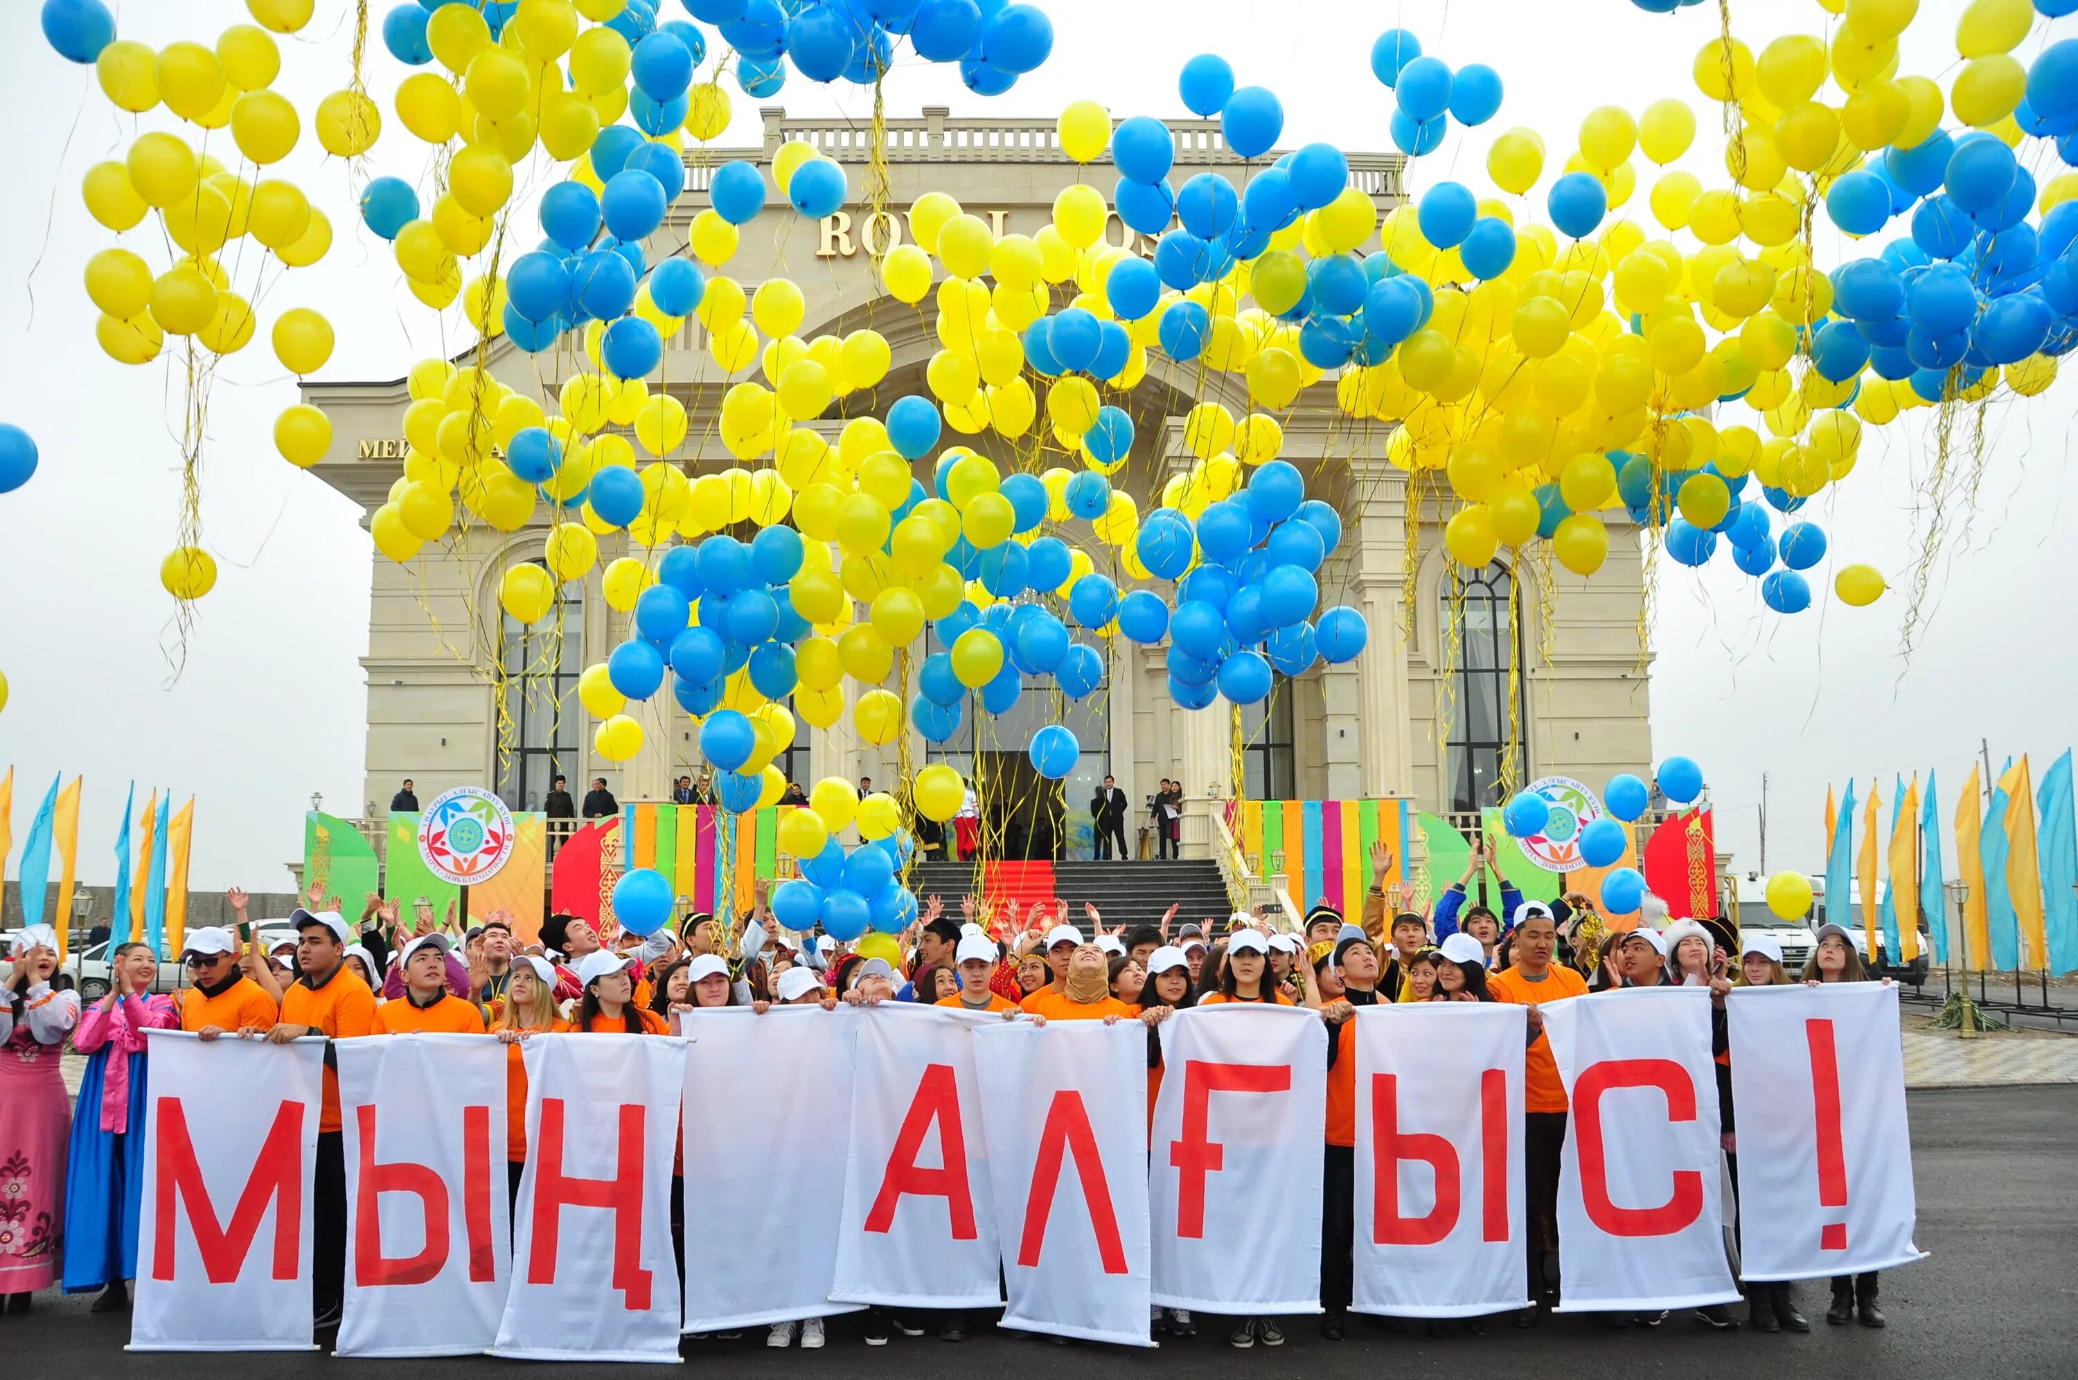
[[[58,1282],[64,1239],[64,1151],[73,1108],[58,1077],[79,996],[54,991],[58,931],[15,935],[0,983],[0,1307],[27,1313],[29,1295]]]

